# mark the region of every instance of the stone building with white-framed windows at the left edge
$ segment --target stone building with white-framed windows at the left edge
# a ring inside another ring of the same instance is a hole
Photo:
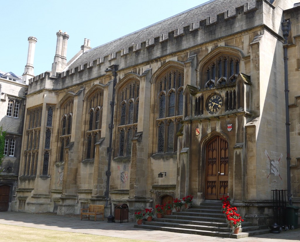
[[[0,211],[8,211],[15,199],[22,146],[28,85],[12,72],[0,71],[0,127],[6,132],[4,158],[0,165]]]

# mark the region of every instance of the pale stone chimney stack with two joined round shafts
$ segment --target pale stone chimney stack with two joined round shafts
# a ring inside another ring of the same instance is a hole
[[[57,72],[62,72],[64,67],[67,65],[67,41],[69,35],[66,32],[62,33],[59,30],[56,33],[56,51],[54,56],[54,61],[52,63],[52,76],[56,76]]]

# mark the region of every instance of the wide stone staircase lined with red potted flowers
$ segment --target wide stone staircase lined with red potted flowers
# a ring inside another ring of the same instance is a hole
[[[173,211],[172,215],[164,215],[161,219],[155,218],[152,222],[144,220],[142,225],[134,227],[236,239],[269,233],[268,226],[253,226],[250,222],[242,222],[239,233],[230,235],[231,230],[227,228],[221,205],[220,202],[206,200],[199,206],[192,205],[191,208],[184,208],[181,212]]]

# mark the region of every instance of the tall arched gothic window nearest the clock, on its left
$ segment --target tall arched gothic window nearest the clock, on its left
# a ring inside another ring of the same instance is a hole
[[[210,69],[207,76],[210,79]],[[177,134],[175,121],[183,115],[183,71],[170,68],[156,80],[157,86],[157,152],[175,152]],[[161,88],[163,86],[164,88]],[[161,89],[163,89],[161,91]],[[167,96],[166,96],[167,94]]]

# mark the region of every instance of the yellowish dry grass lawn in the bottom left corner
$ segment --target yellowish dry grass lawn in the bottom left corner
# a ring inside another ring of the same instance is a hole
[[[86,235],[79,233],[70,233],[70,232],[61,232],[54,231],[48,229],[35,229],[29,227],[22,226],[13,226],[13,225],[0,225],[0,241],[5,242],[34,242],[34,241],[42,241],[42,242],[56,242],[56,241],[64,241],[64,242],[138,242],[142,240],[132,240],[132,239],[124,239],[124,238],[116,238],[116,237],[107,237],[100,235]],[[145,241],[143,241],[145,242]]]

